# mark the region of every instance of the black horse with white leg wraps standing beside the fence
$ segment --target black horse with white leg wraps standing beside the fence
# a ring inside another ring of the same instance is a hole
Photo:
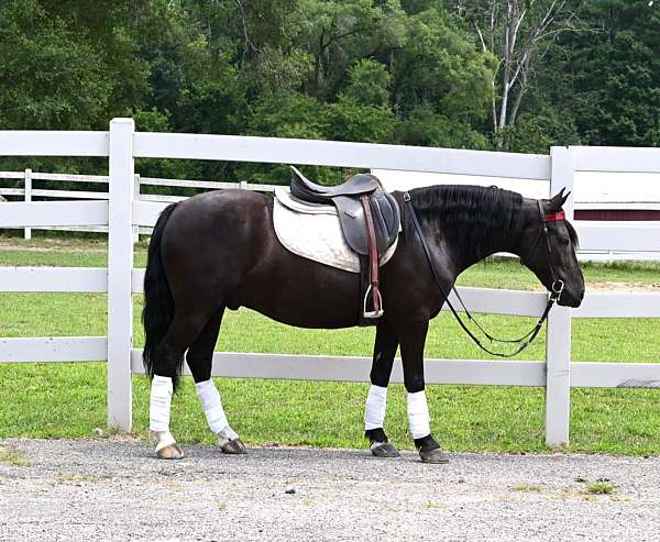
[[[403,193],[394,196],[402,210],[402,233],[395,255],[381,273],[385,314],[376,325],[366,436],[375,455],[396,454],[382,424],[384,391],[400,346],[415,444],[424,461],[441,463],[446,458],[430,434],[424,395],[424,349],[429,320],[446,302],[443,292],[471,265],[509,252],[520,256],[549,290],[556,280],[563,281],[558,302],[578,307],[584,296],[578,240],[568,221],[544,220],[544,214],[561,211],[568,197],[563,193],[535,200],[495,187],[417,188],[409,199],[437,269],[435,277],[410,208]],[[209,384],[226,308],[248,307],[299,328],[337,329],[356,325],[361,305],[356,274],[288,252],[273,230],[272,196],[243,190],[199,195],[163,211],[148,248],[144,292],[144,363],[154,377],[151,429],[158,439],[158,456],[167,458],[183,457],[168,421],[186,352],[222,451],[244,453],[218,391]]]

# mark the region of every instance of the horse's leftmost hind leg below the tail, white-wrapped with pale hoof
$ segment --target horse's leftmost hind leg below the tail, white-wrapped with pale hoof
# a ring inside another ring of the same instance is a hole
[[[184,457],[184,452],[169,432],[172,396],[184,353],[204,329],[207,319],[205,316],[177,310],[156,349],[150,397],[150,430],[157,441],[156,455],[162,460]]]

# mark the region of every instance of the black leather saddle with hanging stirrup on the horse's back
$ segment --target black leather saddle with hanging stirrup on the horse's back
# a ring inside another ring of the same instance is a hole
[[[312,182],[293,166],[292,172],[292,195],[310,204],[337,207],[344,240],[360,256],[360,292],[364,297],[359,322],[366,324],[381,318],[384,311],[378,289],[378,259],[397,240],[398,203],[373,175],[359,174],[343,185],[324,187]],[[370,297],[371,310],[367,308]]]

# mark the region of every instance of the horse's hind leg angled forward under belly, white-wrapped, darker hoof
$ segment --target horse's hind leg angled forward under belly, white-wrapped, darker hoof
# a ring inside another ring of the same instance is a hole
[[[209,429],[218,436],[218,445],[226,454],[244,454],[245,446],[233,429],[229,425],[220,392],[211,380],[213,349],[218,340],[224,307],[209,318],[204,330],[188,350],[186,360],[193,373],[197,397],[206,416]]]

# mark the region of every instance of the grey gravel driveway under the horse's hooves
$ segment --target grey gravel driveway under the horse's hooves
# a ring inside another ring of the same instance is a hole
[[[660,457],[186,452],[0,441],[0,540],[660,540]]]

